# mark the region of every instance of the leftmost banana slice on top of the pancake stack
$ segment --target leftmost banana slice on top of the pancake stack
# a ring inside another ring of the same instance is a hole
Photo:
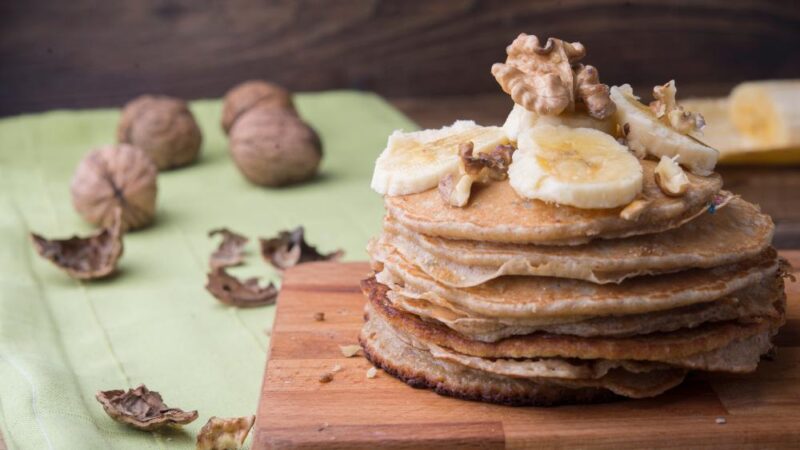
[[[458,171],[458,146],[470,141],[474,153],[509,142],[502,128],[482,127],[471,120],[438,130],[395,131],[375,162],[372,189],[394,196],[434,188],[442,177]]]

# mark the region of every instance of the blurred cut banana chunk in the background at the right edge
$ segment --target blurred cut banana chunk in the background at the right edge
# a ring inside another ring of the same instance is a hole
[[[800,144],[800,80],[753,81],[731,92],[729,114],[741,134],[763,147]]]

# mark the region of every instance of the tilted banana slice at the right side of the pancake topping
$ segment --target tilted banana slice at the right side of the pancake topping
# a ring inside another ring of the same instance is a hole
[[[629,85],[612,87],[611,100],[617,105],[615,117],[625,130],[631,150],[656,158],[679,155],[678,162],[692,173],[710,175],[713,172],[719,152],[658,120],[650,108],[636,99]]]

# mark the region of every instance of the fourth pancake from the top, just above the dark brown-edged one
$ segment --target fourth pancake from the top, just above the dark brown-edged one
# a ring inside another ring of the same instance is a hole
[[[446,325],[469,339],[496,342],[515,335],[535,332],[569,334],[581,337],[627,337],[637,334],[667,333],[695,328],[707,322],[735,320],[752,322],[777,313],[773,303],[783,289],[780,278],[764,278],[727,297],[666,311],[627,316],[594,317],[565,323],[541,323],[538,319],[495,319],[476,316],[463,309],[444,308],[422,299],[410,299],[388,291],[393,307]]]

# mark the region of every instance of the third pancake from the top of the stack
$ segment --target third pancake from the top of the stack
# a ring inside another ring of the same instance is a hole
[[[376,277],[395,292],[438,305],[454,304],[489,317],[570,317],[641,314],[722,298],[778,272],[777,253],[711,269],[594,284],[552,277],[502,277],[470,288],[437,283],[391,247],[372,256],[383,263]]]

